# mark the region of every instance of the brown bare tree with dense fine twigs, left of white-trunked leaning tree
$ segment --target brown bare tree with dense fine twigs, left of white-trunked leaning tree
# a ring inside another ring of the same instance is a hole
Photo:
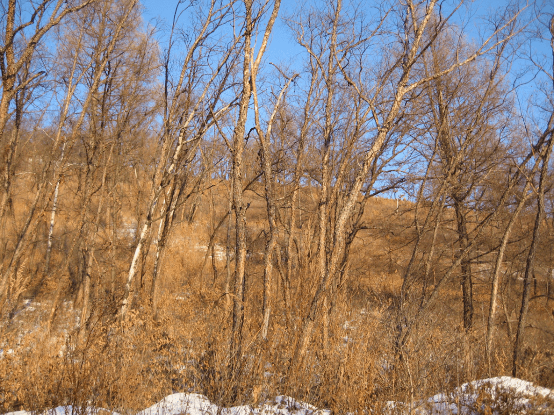
[[[156,51],[151,37],[141,33],[142,23],[139,7],[135,2],[99,2],[94,12],[86,16],[90,23],[84,25],[90,31],[87,33],[86,44],[92,45],[93,53],[86,54],[82,62],[92,61],[91,70],[98,67],[97,50],[101,50],[105,39],[115,37],[115,47],[112,56],[108,58],[101,83],[91,91],[94,105],[88,109],[86,130],[81,133],[79,142],[83,157],[78,169],[82,177],[80,186],[80,219],[77,227],[78,240],[75,249],[78,250],[78,262],[81,270],[81,307],[80,330],[84,334],[88,322],[91,303],[91,286],[99,287],[99,274],[93,272],[93,265],[98,261],[95,257],[99,249],[97,242],[101,232],[99,222],[104,217],[111,193],[114,192],[117,178],[109,180],[114,161],[119,148],[125,140],[141,127],[147,126],[152,116],[151,107],[145,103],[147,90],[143,85],[153,80],[156,69]],[[89,20],[90,19],[90,20]],[[118,34],[118,27],[125,26],[125,32]],[[91,76],[93,78],[93,76]],[[86,85],[86,81],[85,81]],[[90,209],[93,207],[93,209]],[[98,268],[98,267],[94,267]],[[96,274],[96,275],[94,275]]]

